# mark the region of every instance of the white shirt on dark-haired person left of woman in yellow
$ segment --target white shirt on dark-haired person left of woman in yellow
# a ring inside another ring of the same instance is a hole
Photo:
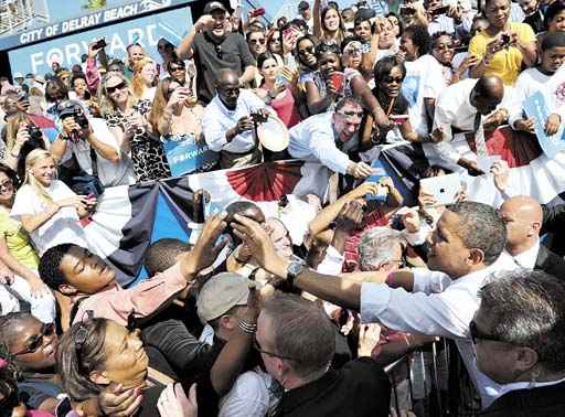
[[[408,117],[416,132],[429,132],[424,98],[437,98],[447,87],[444,67],[431,55],[423,55],[416,61],[406,62],[406,77],[402,83],[402,94],[408,100]]]

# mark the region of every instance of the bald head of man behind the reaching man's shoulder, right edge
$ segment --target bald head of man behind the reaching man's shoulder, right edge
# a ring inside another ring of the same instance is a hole
[[[500,206],[500,217],[507,224],[507,247],[518,255],[532,247],[542,228],[542,206],[532,197],[520,195],[509,199]]]

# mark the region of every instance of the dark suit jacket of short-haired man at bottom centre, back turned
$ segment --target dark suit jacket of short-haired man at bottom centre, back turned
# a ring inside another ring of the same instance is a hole
[[[282,394],[276,417],[387,417],[391,383],[371,357],[360,357],[339,371]]]

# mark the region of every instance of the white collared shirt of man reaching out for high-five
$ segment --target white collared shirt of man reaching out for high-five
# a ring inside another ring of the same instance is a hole
[[[488,407],[502,395],[502,386],[477,368],[469,323],[479,309],[479,289],[488,279],[495,279],[493,272],[515,268],[515,264],[499,258],[487,268],[456,280],[444,272],[414,269],[412,293],[386,284],[362,284],[361,320],[379,321],[404,332],[454,339],[481,395],[482,407]]]

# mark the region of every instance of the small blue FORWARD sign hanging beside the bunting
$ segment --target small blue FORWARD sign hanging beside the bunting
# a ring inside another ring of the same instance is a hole
[[[193,136],[172,138],[172,140],[163,141],[163,148],[173,177],[184,175],[196,170],[207,170],[216,163],[217,153],[207,148],[204,139],[194,140]]]

